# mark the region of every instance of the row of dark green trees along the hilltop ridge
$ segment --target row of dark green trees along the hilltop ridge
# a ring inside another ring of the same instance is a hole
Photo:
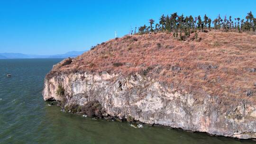
[[[170,16],[162,15],[159,18],[159,23],[155,23],[155,20],[149,19],[149,26],[142,26],[138,28],[139,34],[145,34],[150,32],[173,32],[174,37],[178,37],[178,33],[180,33],[180,38],[186,39],[190,36],[191,33],[202,31],[207,32],[209,30],[215,29],[223,32],[245,32],[245,31],[253,31],[256,32],[256,18],[254,18],[252,12],[248,12],[245,19],[241,18],[232,18],[226,16],[223,18],[220,15],[211,19],[204,15],[203,18],[201,16],[192,17],[186,16],[183,14],[179,16],[176,12],[171,14]],[[154,25],[155,24],[155,25]],[[136,27],[137,28],[137,27]],[[135,32],[136,33],[136,28]],[[132,32],[131,32],[132,34]]]

